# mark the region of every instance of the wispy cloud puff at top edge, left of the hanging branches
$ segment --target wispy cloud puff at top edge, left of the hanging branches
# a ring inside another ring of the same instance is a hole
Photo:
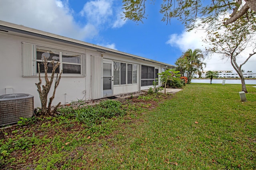
[[[112,0],[95,0],[87,2],[81,16],[85,16],[90,23],[100,25],[106,23],[112,16]]]

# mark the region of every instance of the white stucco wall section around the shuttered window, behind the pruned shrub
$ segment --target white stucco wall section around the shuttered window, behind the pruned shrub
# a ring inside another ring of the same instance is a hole
[[[27,93],[34,96],[34,106],[40,107],[40,98],[35,83],[38,83],[38,76],[22,77],[22,42],[35,43],[58,49],[66,49],[85,53],[83,49],[67,47],[55,43],[39,41],[14,35],[0,33],[0,95],[6,94],[6,88],[12,88],[13,93]],[[86,61],[86,63],[90,62]],[[86,73],[90,74],[90,68],[86,67]],[[49,75],[49,74],[48,74]],[[44,76],[41,76],[44,80]],[[44,84],[44,81],[42,81]],[[56,90],[53,105],[61,102],[70,103],[78,99],[89,98],[90,78],[87,76],[66,77],[62,76],[60,84]],[[52,94],[53,87],[50,90],[49,97]]]

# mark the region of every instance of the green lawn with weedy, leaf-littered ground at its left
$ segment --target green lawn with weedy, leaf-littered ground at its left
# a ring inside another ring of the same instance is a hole
[[[30,127],[2,129],[5,139],[0,139],[0,147],[11,146],[2,153],[0,165],[49,170],[255,170],[256,88],[248,85],[247,90],[248,102],[241,102],[241,85],[189,84],[167,98],[133,97],[122,104],[126,115],[93,126],[62,115],[41,118]],[[26,147],[21,149],[20,143]]]

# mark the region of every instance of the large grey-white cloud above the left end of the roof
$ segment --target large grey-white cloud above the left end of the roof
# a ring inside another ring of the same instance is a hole
[[[94,25],[76,23],[66,3],[60,0],[0,0],[0,20],[80,40],[97,35]]]

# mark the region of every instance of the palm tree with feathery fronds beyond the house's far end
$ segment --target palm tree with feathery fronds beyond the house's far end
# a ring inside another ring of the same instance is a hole
[[[203,66],[206,66],[206,63],[203,62],[204,55],[200,49],[188,49],[183,58],[186,59],[186,73],[188,77],[188,83],[191,82],[191,79],[194,75],[194,72],[203,70]]]

